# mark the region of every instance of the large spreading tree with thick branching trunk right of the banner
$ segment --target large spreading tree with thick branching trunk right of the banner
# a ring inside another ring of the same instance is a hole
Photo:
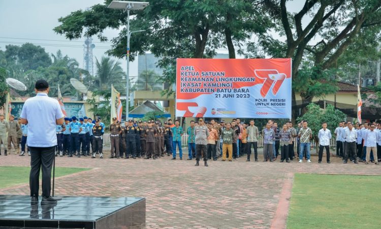
[[[266,0],[261,5],[276,21],[275,30],[285,37],[286,41],[267,34],[260,36],[260,44],[270,56],[293,59],[294,104],[295,92],[300,92],[298,90],[302,87],[308,89],[314,85],[317,88],[315,84],[320,82],[320,90],[302,92],[302,102],[307,104],[314,96],[335,92],[336,80],[334,75],[328,80],[327,77],[321,80],[301,80],[300,77],[305,77],[305,74],[299,72],[314,71],[313,75],[321,75],[327,69],[337,68],[338,58],[351,44],[360,39],[361,34],[367,33],[368,36],[376,38],[381,25],[381,21],[378,20],[381,15],[381,2],[305,0],[302,9],[296,13],[291,13],[286,2],[287,0]]]

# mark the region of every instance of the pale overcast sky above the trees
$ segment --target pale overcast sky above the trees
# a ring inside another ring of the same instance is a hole
[[[288,4],[296,8],[298,1]],[[86,9],[95,4],[103,3],[103,0],[0,0],[0,48],[5,50],[7,44],[21,45],[25,42],[34,43],[45,48],[49,53],[56,53],[58,49],[64,55],[75,58],[80,67],[83,67],[83,44],[84,39],[77,41],[66,40],[64,36],[57,35],[53,28],[58,25],[58,18],[67,16],[78,9]],[[296,10],[296,9],[294,9]],[[104,35],[109,39],[118,35],[117,30],[107,30]],[[133,35],[134,36],[134,35]],[[274,36],[277,36],[274,34]],[[96,47],[93,49],[95,57],[101,59],[104,52],[110,47],[110,43],[97,43],[97,37],[93,37]],[[68,47],[71,46],[71,47]],[[227,53],[225,50],[219,53]],[[125,60],[119,60],[125,69]],[[130,76],[138,74],[137,61],[130,64]],[[95,71],[95,68],[94,68]]]

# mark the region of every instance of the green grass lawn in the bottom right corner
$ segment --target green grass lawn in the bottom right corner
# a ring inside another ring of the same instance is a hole
[[[381,176],[295,174],[287,228],[380,228]]]

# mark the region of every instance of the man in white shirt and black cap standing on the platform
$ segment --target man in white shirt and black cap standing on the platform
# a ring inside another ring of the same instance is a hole
[[[28,124],[27,145],[30,149],[30,196],[31,204],[38,204],[39,177],[42,169],[41,205],[55,204],[57,198],[50,196],[51,169],[57,145],[56,125],[63,124],[63,113],[58,101],[49,98],[49,84],[38,80],[36,96],[25,101],[21,111],[21,123]],[[41,128],[41,127],[44,128]]]

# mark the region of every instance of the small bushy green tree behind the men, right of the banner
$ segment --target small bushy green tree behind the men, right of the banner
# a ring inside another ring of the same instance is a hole
[[[319,138],[317,138],[317,134],[319,133],[319,130],[322,129],[322,123],[327,123],[327,128],[331,130],[333,136],[333,131],[336,129],[337,124],[343,121],[345,117],[343,112],[335,109],[331,104],[327,104],[326,109],[322,109],[319,105],[310,103],[307,105],[307,112],[299,117],[297,122],[303,120],[308,122],[308,127],[312,130],[312,136],[316,142],[316,146],[319,146]],[[316,152],[318,149],[319,148],[316,147]]]

